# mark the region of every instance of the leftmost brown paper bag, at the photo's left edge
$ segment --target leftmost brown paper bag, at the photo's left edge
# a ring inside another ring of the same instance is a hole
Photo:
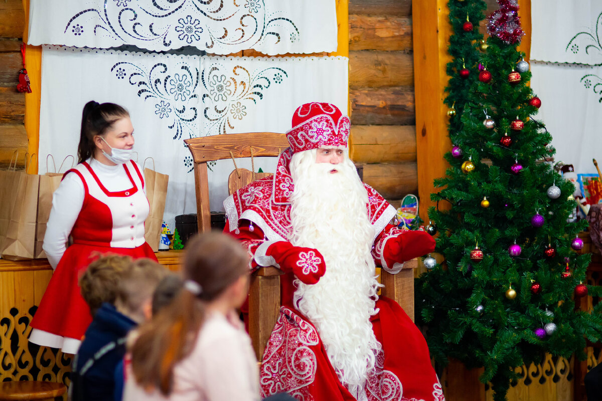
[[[33,156],[26,156],[26,169]],[[4,259],[34,257],[37,199],[40,176],[16,171],[0,171],[0,254]]]

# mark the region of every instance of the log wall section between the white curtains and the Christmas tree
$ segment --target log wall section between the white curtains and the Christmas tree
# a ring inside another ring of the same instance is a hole
[[[349,0],[351,153],[388,200],[417,194],[411,0]]]

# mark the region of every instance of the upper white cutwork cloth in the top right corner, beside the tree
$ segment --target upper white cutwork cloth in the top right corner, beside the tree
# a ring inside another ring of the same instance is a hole
[[[532,0],[531,60],[602,64],[600,0]]]

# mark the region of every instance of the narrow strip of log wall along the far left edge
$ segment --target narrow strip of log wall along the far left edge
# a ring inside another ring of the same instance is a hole
[[[23,165],[27,151],[25,94],[16,90],[24,25],[22,0],[0,1],[0,167],[7,167],[14,150]]]

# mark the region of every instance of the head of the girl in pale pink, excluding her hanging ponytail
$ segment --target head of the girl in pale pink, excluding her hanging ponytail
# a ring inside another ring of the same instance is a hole
[[[197,298],[211,302],[228,291],[229,295],[241,298],[233,300],[235,307],[244,302],[249,255],[237,240],[222,233],[199,234],[188,241],[186,251],[184,279],[199,284]],[[239,290],[243,290],[242,295]]]

